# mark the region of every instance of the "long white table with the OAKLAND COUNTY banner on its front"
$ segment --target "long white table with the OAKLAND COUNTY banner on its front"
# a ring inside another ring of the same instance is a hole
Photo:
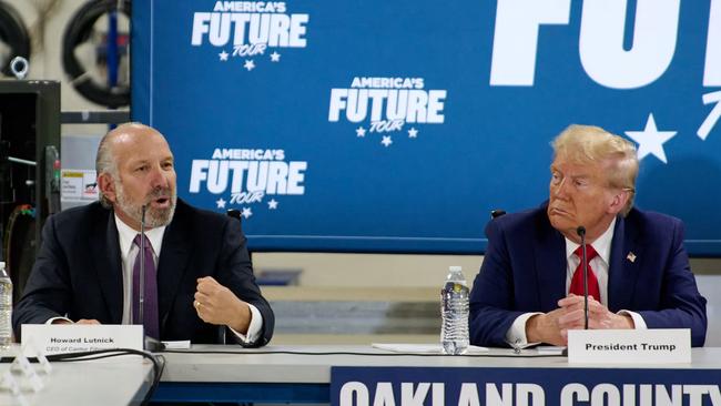
[[[193,351],[230,354],[190,353]],[[526,351],[521,356],[515,356],[510,349],[498,348],[491,349],[487,356],[377,356],[373,354],[388,352],[347,345],[267,346],[257,349],[194,345],[187,353],[164,354],[167,363],[153,399],[327,403],[333,366],[721,369],[721,348],[694,348],[691,364],[633,366],[569,365],[562,356],[525,357],[535,353]]]

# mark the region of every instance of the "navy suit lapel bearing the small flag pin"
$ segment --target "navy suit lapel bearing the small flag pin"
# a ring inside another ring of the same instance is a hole
[[[619,216],[611,242],[608,268],[608,307],[611,312],[632,307],[639,264],[643,257],[637,232],[626,225],[626,219]]]

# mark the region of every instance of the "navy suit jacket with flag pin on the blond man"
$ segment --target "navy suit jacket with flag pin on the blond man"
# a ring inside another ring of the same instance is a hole
[[[506,346],[516,317],[550,312],[566,297],[566,242],[546,206],[486,226],[488,248],[470,293],[471,344]],[[691,328],[692,345],[703,345],[705,298],[689,266],[680,220],[637,209],[616,220],[608,307],[639,313],[649,328]]]

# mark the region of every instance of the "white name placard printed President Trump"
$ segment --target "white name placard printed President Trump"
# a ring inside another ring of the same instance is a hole
[[[569,329],[568,363],[691,363],[689,328]]]

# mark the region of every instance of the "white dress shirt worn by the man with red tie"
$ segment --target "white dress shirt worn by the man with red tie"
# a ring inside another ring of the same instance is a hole
[[[598,287],[601,294],[601,304],[608,306],[608,268],[611,257],[611,242],[613,240],[613,230],[616,229],[616,222],[611,222],[608,229],[599,236],[591,246],[598,255],[589,262],[589,272],[592,270],[596,278],[598,280]],[[573,252],[578,248],[580,244],[577,244],[568,238],[566,238],[566,292],[570,291],[571,280],[573,278],[573,272],[576,267],[581,263],[581,258],[578,257]],[[528,338],[526,337],[526,323],[528,319],[537,314],[542,314],[540,312],[535,313],[524,313],[520,316],[516,317],[514,324],[506,333],[506,341],[509,343],[516,343],[518,345],[528,344]],[[633,318],[633,324],[637,329],[647,328],[646,322],[640,314],[630,311],[620,311],[618,314],[627,314]]]

